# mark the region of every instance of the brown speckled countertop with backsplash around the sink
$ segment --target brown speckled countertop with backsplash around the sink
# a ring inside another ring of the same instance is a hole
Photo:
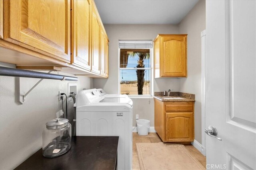
[[[164,98],[170,99],[164,99]],[[184,98],[184,99],[173,99],[172,97],[176,98]],[[195,102],[195,95],[189,93],[182,93],[182,92],[170,92],[170,96],[164,96],[164,92],[155,92],[154,98],[162,101],[162,102]]]

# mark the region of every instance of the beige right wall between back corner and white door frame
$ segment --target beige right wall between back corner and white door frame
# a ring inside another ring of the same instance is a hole
[[[201,31],[205,29],[205,0],[200,0],[179,23],[188,34],[188,77],[180,78],[180,92],[195,94],[195,139],[201,143]]]

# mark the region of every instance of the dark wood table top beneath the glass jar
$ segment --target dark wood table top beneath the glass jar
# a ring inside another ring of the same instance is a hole
[[[118,137],[72,136],[72,147],[56,158],[45,158],[38,150],[17,170],[114,170]]]

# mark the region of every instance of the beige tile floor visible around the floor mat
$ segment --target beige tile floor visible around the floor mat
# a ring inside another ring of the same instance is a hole
[[[136,149],[136,143],[158,143],[162,142],[156,133],[148,133],[147,136],[139,136],[138,133],[132,133],[132,169],[140,170],[140,164]],[[186,149],[194,156],[198,162],[206,167],[206,157],[202,155],[193,145],[185,145]]]

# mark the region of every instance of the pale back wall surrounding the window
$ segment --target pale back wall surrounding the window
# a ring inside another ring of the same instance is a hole
[[[109,78],[94,79],[94,88],[103,88],[107,93],[118,94],[118,40],[154,40],[158,34],[177,34],[177,25],[151,24],[105,24],[109,39]],[[179,91],[178,78],[154,79],[154,92],[168,90]],[[148,98],[132,98],[134,102],[133,126],[136,125],[135,115],[140,119],[149,119],[154,126],[154,100]]]

